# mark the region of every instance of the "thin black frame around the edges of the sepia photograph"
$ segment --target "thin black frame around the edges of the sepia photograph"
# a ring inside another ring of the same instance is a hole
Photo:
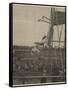
[[[22,84],[22,85],[13,85],[13,4],[20,5],[35,5],[35,6],[56,6],[56,7],[65,7],[65,69],[67,67],[66,60],[66,11],[67,6],[64,5],[48,5],[48,4],[32,4],[32,3],[9,3],[9,86],[10,87],[24,87],[24,86],[42,86],[42,85],[59,85],[67,84],[67,69],[65,71],[65,82],[54,82],[54,83],[40,83],[40,84]]]

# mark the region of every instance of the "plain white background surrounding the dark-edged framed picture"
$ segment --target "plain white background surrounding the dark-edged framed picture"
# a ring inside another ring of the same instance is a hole
[[[67,6],[68,0],[0,0],[0,90],[11,90],[9,87],[9,3],[34,3],[34,4],[57,4]],[[67,12],[68,16],[68,12]],[[67,17],[68,22],[68,17]],[[68,28],[68,26],[66,26]],[[68,51],[68,31],[66,29],[67,37],[67,51]],[[68,56],[68,53],[67,53]],[[68,59],[68,58],[67,58]],[[67,61],[68,71],[68,61]],[[67,72],[68,77],[68,72]],[[64,85],[46,85],[46,86],[34,86],[34,87],[19,87],[13,88],[13,90],[68,90],[68,78],[67,84]]]

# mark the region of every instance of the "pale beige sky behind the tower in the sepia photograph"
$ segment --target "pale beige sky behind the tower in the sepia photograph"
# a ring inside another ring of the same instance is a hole
[[[33,46],[34,42],[40,42],[47,35],[49,24],[38,22],[38,19],[42,16],[50,18],[50,10],[51,6],[13,4],[13,45]],[[64,11],[64,7],[58,7],[57,10]]]

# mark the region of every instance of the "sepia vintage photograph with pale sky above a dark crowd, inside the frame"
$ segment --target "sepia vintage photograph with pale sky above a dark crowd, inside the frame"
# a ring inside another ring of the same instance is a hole
[[[66,83],[66,7],[12,4],[13,86]]]

